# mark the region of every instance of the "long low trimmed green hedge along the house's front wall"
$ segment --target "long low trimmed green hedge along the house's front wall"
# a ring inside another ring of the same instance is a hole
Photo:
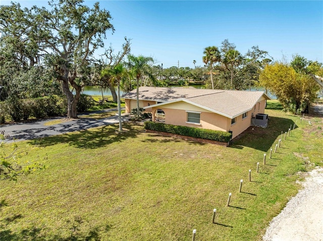
[[[144,122],[144,126],[146,130],[161,131],[220,142],[229,142],[232,137],[231,133],[225,131],[170,125],[161,122],[146,121]]]

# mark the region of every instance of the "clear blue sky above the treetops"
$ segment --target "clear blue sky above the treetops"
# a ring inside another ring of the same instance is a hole
[[[18,1],[22,7],[47,1]],[[97,1],[85,1],[93,6]],[[258,45],[274,60],[300,54],[323,62],[323,1],[99,1],[116,31],[107,33],[119,50],[132,39],[134,55],[152,56],[164,68],[202,66],[203,50],[228,39],[245,54]],[[1,0],[1,5],[10,1]]]

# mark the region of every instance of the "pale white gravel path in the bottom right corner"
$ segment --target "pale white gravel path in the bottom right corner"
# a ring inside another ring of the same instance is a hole
[[[267,228],[264,241],[323,241],[323,168],[315,168]]]

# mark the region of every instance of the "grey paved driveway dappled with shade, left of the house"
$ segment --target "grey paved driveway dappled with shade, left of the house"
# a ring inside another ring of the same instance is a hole
[[[100,113],[100,112],[112,112],[116,111],[116,109],[106,109],[102,111],[89,112],[89,113]],[[88,113],[82,113],[79,115],[85,115]],[[130,118],[129,114],[122,114],[122,122],[128,121]],[[8,124],[1,125],[0,130],[5,132],[7,138],[5,142],[10,143],[13,141],[21,141],[21,140],[31,140],[36,138],[42,138],[51,135],[59,135],[67,132],[86,130],[92,127],[118,124],[119,119],[118,115],[103,118],[103,119],[92,119],[92,118],[80,118],[73,119],[70,121],[62,122],[55,125],[46,126],[44,125],[48,121],[60,120],[64,119],[64,117],[56,117],[45,120],[36,120],[30,122],[16,123],[16,124]]]

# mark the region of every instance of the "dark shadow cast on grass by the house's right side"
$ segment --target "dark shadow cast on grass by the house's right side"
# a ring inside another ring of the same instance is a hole
[[[234,138],[229,147],[237,149],[251,147],[264,152],[270,150],[282,131],[288,131],[288,128],[290,128],[290,125],[293,126],[294,122],[293,120],[286,118],[272,116],[269,118],[268,126],[266,128],[250,126],[239,136]]]

